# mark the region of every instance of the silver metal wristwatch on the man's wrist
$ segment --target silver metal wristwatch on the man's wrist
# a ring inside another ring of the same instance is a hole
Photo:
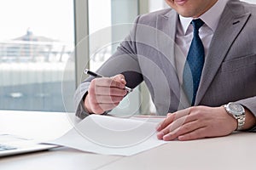
[[[242,105],[230,102],[224,105],[225,110],[237,121],[236,130],[241,130],[245,123],[245,110]]]

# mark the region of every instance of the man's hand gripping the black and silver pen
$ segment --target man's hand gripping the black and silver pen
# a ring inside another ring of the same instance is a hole
[[[125,97],[125,77],[121,74],[114,77],[95,78],[90,82],[84,106],[89,113],[102,114],[119,105]]]

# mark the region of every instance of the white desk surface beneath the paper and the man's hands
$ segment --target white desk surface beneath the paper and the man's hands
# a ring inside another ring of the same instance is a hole
[[[0,111],[0,133],[55,139],[73,127],[70,117],[66,113]],[[0,158],[0,169],[254,170],[255,141],[256,133],[235,133],[222,138],[172,141],[128,157],[102,156],[63,147]]]

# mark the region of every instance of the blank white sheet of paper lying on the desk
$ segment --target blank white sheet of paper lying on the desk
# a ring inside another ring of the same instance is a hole
[[[90,115],[49,143],[103,155],[131,156],[166,143],[156,137],[155,127],[162,120]]]

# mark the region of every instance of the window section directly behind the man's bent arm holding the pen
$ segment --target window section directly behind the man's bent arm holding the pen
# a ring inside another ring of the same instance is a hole
[[[137,14],[137,0],[89,0],[91,70],[96,71],[113,54],[119,42],[129,33]],[[139,94],[138,88],[128,94],[112,114],[137,114],[140,111]]]

